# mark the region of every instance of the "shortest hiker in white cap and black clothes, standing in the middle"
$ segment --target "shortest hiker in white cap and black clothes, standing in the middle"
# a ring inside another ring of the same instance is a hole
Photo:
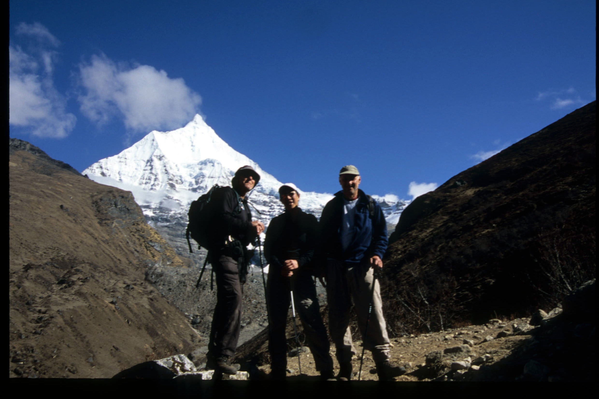
[[[268,307],[268,351],[271,357],[271,379],[284,380],[287,369],[285,328],[293,291],[295,309],[299,313],[314,366],[323,380],[332,379],[333,361],[329,340],[320,318],[313,275],[318,221],[299,206],[299,190],[288,183],[279,188],[285,213],[268,225],[264,255],[268,267],[266,301]]]

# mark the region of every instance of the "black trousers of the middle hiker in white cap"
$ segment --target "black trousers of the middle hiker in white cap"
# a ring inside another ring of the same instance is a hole
[[[299,314],[304,334],[314,357],[317,371],[332,370],[333,361],[329,355],[329,340],[326,328],[320,317],[320,306],[316,298],[316,287],[310,273],[295,270],[293,278],[295,311]],[[272,370],[287,368],[287,340],[285,329],[289,306],[291,305],[290,278],[281,275],[279,267],[270,266],[266,287],[268,308],[268,351]]]

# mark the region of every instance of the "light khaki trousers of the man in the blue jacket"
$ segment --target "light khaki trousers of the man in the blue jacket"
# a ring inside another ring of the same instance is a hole
[[[373,295],[373,280],[374,270],[370,263],[345,263],[332,259],[326,261],[329,331],[337,349],[339,363],[351,361],[352,356],[356,354],[349,328],[352,299],[365,349],[372,352],[376,363],[388,360],[390,357],[391,345],[383,317],[380,285],[379,281],[375,281]],[[364,335],[371,300],[373,308],[368,322],[368,331]]]

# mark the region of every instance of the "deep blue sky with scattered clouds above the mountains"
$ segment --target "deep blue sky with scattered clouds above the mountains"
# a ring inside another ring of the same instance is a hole
[[[411,199],[595,100],[595,45],[591,0],[11,1],[10,136],[81,171],[199,113],[304,191]]]

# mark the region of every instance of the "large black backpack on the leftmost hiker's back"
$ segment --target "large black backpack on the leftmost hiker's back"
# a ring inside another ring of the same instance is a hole
[[[191,243],[189,242],[190,236],[198,243],[198,249],[201,246],[210,249],[208,248],[211,236],[209,227],[211,219],[214,216],[214,212],[212,212],[213,206],[211,206],[211,204],[214,203],[215,198],[222,197],[223,191],[226,189],[230,189],[230,187],[214,184],[207,193],[202,194],[198,199],[192,201],[189,206],[189,211],[187,212],[189,223],[187,223],[187,230],[185,232],[187,245],[189,245],[189,252],[193,253],[191,250]]]

